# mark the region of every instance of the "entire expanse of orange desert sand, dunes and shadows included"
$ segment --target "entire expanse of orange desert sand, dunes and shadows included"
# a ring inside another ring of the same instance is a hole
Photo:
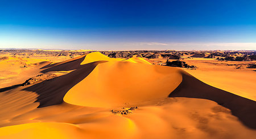
[[[234,68],[244,62],[187,55],[197,66],[188,69],[100,52],[1,57],[0,138],[256,136],[256,72]]]

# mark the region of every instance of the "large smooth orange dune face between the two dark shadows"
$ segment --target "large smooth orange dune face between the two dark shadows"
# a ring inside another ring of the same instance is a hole
[[[131,62],[106,62],[64,97],[75,105],[130,106],[167,97],[181,82],[180,69]]]

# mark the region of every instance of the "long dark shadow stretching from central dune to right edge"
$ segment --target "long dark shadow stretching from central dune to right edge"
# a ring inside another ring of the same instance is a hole
[[[203,98],[215,101],[219,105],[229,108],[232,114],[237,116],[247,127],[256,129],[255,101],[214,88],[188,73],[183,73],[183,81],[168,97]]]

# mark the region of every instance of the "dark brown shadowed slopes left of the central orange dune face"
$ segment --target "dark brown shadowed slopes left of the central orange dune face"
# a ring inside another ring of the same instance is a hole
[[[81,63],[81,59],[79,60],[79,62]],[[38,84],[29,86],[27,88],[24,88],[23,90],[36,92],[37,94],[39,94],[38,100],[36,101],[36,102],[40,102],[40,105],[38,107],[46,107],[46,106],[60,104],[63,102],[64,95],[68,92],[69,89],[71,89],[81,80],[83,80],[86,76],[88,76],[89,73],[92,72],[93,69],[97,66],[97,64],[104,63],[104,62],[105,61],[92,62],[84,65],[80,65],[79,63],[78,66],[77,66],[77,63],[75,62],[75,63],[67,63],[67,64],[59,65],[56,67],[52,67],[50,69],[45,69],[44,72],[55,71],[55,70],[63,71],[67,69],[65,68],[66,66],[73,66],[73,68],[76,67],[75,71],[72,71],[67,75],[63,75],[51,80],[39,82]],[[67,70],[71,70],[71,69],[67,69]]]

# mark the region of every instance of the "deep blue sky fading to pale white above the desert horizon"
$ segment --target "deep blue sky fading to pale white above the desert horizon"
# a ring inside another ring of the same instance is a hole
[[[256,49],[255,0],[0,0],[0,47]]]

